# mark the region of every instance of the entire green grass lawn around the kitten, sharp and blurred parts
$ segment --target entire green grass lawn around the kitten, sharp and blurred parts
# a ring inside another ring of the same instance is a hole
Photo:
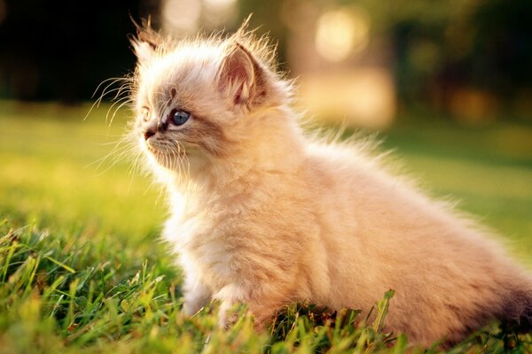
[[[215,326],[216,304],[183,316],[181,275],[156,241],[166,216],[159,189],[127,160],[98,167],[124,116],[106,127],[106,110],[83,121],[88,107],[1,108],[0,352],[423,352],[382,333],[391,293],[375,322],[294,304],[268,335],[254,333],[243,309],[228,331]],[[461,199],[532,266],[532,127],[409,118],[385,137],[434,195]],[[531,335],[493,324],[450,352],[505,350],[530,352]]]

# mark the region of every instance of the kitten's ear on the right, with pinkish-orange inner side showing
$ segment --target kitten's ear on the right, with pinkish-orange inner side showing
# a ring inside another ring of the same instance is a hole
[[[236,43],[223,58],[218,73],[218,88],[235,105],[250,106],[258,92],[262,68],[242,45]]]

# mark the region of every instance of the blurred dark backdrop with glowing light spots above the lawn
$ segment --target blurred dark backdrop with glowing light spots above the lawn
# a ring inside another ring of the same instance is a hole
[[[180,36],[231,32],[249,13],[322,119],[379,128],[420,107],[470,122],[532,117],[527,0],[0,0],[0,98],[89,100],[133,70],[130,17]]]

